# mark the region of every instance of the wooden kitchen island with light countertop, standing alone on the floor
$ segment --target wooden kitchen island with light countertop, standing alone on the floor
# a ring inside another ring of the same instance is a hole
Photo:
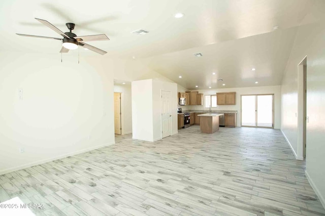
[[[223,113],[204,113],[200,114],[201,132],[213,134],[219,131],[219,116]]]

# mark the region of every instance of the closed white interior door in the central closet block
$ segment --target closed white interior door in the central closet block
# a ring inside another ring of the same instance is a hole
[[[161,138],[172,135],[171,92],[161,91]]]

